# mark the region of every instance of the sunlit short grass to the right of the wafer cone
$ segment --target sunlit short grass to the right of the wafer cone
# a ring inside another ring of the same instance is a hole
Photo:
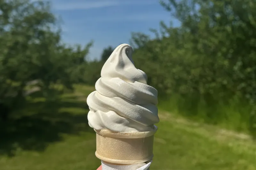
[[[152,169],[256,169],[256,144],[249,136],[164,112],[160,119]]]

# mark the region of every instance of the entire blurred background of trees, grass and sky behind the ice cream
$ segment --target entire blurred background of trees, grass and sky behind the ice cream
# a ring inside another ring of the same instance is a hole
[[[256,170],[255,0],[0,0],[0,169],[96,170],[86,98],[119,44],[159,92],[152,170]]]

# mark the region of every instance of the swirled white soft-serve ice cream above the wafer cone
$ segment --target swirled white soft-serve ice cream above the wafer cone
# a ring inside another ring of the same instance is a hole
[[[131,133],[152,131],[159,122],[157,90],[134,66],[130,45],[121,44],[113,51],[95,88],[87,98],[90,127]]]

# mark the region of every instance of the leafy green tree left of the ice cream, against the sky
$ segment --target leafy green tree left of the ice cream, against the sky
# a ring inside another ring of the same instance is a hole
[[[86,64],[92,43],[85,48],[61,43],[58,20],[45,1],[1,0],[0,13],[1,106],[17,107],[24,101],[26,84],[33,80],[42,90],[53,83],[71,88],[74,72]]]

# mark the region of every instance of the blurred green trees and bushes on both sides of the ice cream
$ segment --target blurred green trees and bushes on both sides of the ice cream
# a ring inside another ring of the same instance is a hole
[[[255,132],[255,0],[160,3],[180,26],[160,22],[160,31],[151,29],[154,38],[131,36],[135,65],[147,73],[148,84],[166,106],[176,102],[169,109],[216,124],[236,122],[236,129]],[[85,47],[62,43],[47,2],[1,0],[0,11],[0,102],[9,107],[24,98],[33,80],[41,90],[52,84],[94,85],[114,50],[109,46],[100,61],[88,62],[92,42]]]

